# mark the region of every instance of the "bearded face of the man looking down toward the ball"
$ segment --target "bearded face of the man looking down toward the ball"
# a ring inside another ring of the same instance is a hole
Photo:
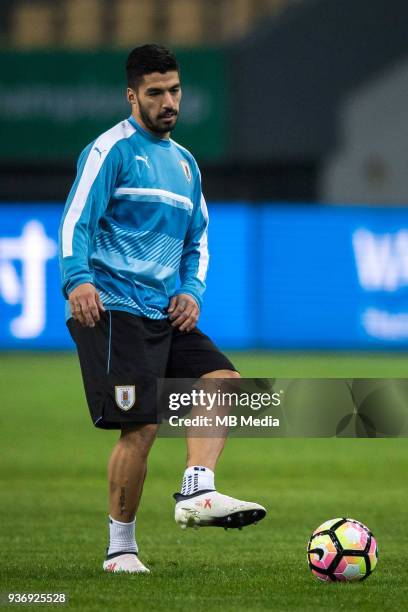
[[[151,132],[169,134],[176,125],[181,87],[177,71],[145,74],[136,90],[128,88],[132,115]]]

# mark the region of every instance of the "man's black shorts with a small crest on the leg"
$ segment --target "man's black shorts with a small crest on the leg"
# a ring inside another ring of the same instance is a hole
[[[156,423],[158,378],[200,378],[235,370],[199,329],[180,332],[168,319],[109,310],[95,327],[69,319],[93,424],[122,429]]]

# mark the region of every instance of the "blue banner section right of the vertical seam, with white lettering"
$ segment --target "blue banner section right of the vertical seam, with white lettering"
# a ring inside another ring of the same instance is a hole
[[[408,346],[408,209],[264,206],[255,344]]]

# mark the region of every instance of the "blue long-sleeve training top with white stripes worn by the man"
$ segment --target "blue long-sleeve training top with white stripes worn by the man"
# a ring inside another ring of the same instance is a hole
[[[179,293],[192,295],[201,307],[207,225],[191,153],[144,130],[133,117],[121,121],[78,160],[59,234],[65,298],[81,283],[92,283],[109,310],[163,319],[169,299]]]

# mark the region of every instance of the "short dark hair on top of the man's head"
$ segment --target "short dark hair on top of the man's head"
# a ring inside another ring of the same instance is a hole
[[[126,61],[128,86],[137,87],[145,74],[164,74],[170,70],[180,72],[176,57],[169,49],[156,44],[136,47],[129,53]]]

